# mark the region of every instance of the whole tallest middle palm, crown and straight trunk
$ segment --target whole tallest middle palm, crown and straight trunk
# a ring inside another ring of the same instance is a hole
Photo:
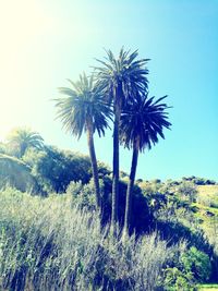
[[[138,93],[147,89],[146,62],[148,59],[137,60],[137,51],[130,53],[120,50],[118,59],[111,50],[106,51],[106,61],[97,60],[101,66],[96,66],[96,76],[102,84],[109,104],[113,104],[113,181],[112,181],[112,214],[111,227],[117,234],[118,197],[119,197],[119,128],[122,107],[128,99],[134,99]]]

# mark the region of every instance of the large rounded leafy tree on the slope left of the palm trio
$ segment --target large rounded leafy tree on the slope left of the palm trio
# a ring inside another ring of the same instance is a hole
[[[27,150],[23,159],[47,193],[64,193],[71,181],[85,184],[92,177],[89,158],[78,153],[47,146],[40,151],[33,148]]]

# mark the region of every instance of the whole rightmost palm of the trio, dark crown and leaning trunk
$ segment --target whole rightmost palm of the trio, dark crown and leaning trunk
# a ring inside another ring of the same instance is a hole
[[[132,190],[135,181],[138,153],[145,148],[150,149],[158,143],[158,137],[165,138],[164,128],[169,129],[171,123],[168,121],[169,107],[162,101],[167,96],[154,100],[148,98],[148,94],[138,95],[134,102],[129,102],[121,114],[121,143],[124,147],[132,148],[132,166],[130,171],[125,218],[124,234],[129,232],[132,210]]]

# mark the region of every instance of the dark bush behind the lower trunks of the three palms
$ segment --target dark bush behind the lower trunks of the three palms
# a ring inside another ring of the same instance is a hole
[[[112,180],[109,177],[105,177],[104,179],[100,179],[99,182],[101,190],[101,201],[104,202],[101,205],[101,225],[106,226],[110,222]],[[126,182],[120,181],[118,218],[121,228],[124,222],[126,187]],[[71,182],[66,189],[66,193],[72,195],[74,205],[77,205],[77,207],[80,207],[81,209],[95,209],[96,203],[93,180],[90,180],[90,182],[85,185],[83,185],[82,183]],[[138,186],[135,186],[132,202],[132,219],[130,226],[131,232],[142,234],[152,227],[153,219],[153,214],[148,208],[146,197],[142,194],[141,189]]]

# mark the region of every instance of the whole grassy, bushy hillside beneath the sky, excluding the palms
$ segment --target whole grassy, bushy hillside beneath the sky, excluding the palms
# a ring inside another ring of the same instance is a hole
[[[191,291],[217,282],[215,181],[137,180],[126,237],[129,178],[121,172],[113,238],[111,170],[98,165],[100,217],[88,157],[55,147],[31,148],[22,158],[0,154],[1,290]]]

